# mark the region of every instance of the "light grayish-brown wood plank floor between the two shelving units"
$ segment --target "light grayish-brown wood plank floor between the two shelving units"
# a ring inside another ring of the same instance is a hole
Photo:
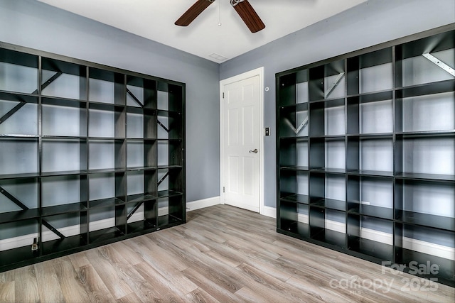
[[[2,272],[0,302],[454,302],[454,288],[411,290],[414,276],[381,270],[218,205],[183,226]]]

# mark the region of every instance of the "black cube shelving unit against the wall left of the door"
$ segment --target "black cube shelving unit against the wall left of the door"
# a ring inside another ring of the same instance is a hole
[[[0,43],[0,271],[186,222],[185,84]]]

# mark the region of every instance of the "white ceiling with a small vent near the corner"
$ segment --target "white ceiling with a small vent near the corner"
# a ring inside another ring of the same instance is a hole
[[[188,27],[174,22],[196,0],[38,1],[220,63],[366,0],[248,0],[266,26],[258,33],[248,30],[230,0],[216,0]]]

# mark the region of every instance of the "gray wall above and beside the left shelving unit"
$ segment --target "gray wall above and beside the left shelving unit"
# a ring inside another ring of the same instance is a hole
[[[217,63],[38,1],[0,0],[0,28],[6,43],[185,82],[186,199],[220,194]]]

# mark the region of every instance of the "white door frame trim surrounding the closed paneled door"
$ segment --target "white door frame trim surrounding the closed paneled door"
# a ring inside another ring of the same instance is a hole
[[[225,85],[242,81],[251,77],[259,76],[259,214],[264,214],[264,67],[259,67],[240,75],[220,80],[220,203],[224,204],[225,194],[223,186],[225,184],[225,149],[223,136],[224,130],[224,106],[223,88]]]

